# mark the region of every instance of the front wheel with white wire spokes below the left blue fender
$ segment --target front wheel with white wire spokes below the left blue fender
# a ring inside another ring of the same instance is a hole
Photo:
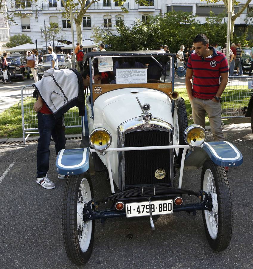
[[[82,207],[83,203],[80,203],[79,197],[83,197],[80,195],[80,185],[85,185],[85,193],[87,195],[87,199],[93,198],[93,188],[91,184],[90,175],[88,172],[85,172],[81,175],[70,176],[67,179],[66,187],[63,196],[63,215],[62,215],[62,227],[63,227],[63,239],[65,249],[68,255],[68,258],[77,265],[85,264],[92,253],[93,242],[94,242],[94,228],[95,221],[87,221],[87,233],[86,233],[86,242],[84,240],[84,244],[82,244],[83,249],[80,246],[79,237],[81,237],[81,230],[78,229],[78,221],[79,223],[82,221]],[[88,200],[89,200],[88,199]],[[79,203],[78,203],[79,201]],[[79,206],[78,206],[79,205]],[[78,208],[80,208],[78,210]],[[77,211],[78,210],[78,211]],[[78,214],[79,212],[80,214]],[[80,216],[79,220],[77,216]],[[89,232],[88,232],[89,230]],[[80,236],[79,236],[80,235]],[[80,239],[81,240],[81,239]]]

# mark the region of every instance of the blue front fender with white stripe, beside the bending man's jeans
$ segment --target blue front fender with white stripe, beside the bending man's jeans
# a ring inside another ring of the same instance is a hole
[[[56,172],[60,175],[79,175],[89,169],[90,148],[61,149],[56,158]]]

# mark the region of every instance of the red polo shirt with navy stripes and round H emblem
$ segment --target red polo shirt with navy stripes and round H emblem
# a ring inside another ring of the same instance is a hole
[[[203,58],[192,53],[187,63],[194,74],[193,97],[200,99],[212,99],[220,86],[220,74],[229,72],[226,56],[215,48],[209,49],[213,50],[212,56]]]

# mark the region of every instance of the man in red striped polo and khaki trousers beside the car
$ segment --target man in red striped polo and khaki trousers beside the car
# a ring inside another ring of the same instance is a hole
[[[209,47],[204,34],[193,40],[195,53],[188,59],[185,85],[190,99],[193,122],[205,128],[207,112],[214,141],[224,140],[221,129],[221,94],[228,82],[228,63],[226,56]],[[194,81],[192,83],[192,77]],[[221,83],[219,83],[221,76]]]

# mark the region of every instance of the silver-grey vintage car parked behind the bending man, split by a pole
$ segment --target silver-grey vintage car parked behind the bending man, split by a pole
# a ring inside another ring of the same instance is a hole
[[[58,59],[59,69],[71,68],[71,62],[68,61],[66,54],[56,54]],[[44,71],[50,69],[50,54],[45,54],[42,57],[42,62],[38,65],[38,76],[40,79],[43,76]]]

